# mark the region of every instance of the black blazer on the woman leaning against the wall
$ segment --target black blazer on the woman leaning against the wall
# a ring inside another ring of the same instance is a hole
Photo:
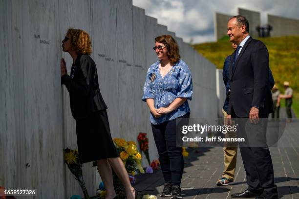
[[[61,82],[69,92],[74,119],[84,119],[90,113],[107,109],[99,88],[96,64],[88,55],[78,55],[70,76],[62,76]]]

